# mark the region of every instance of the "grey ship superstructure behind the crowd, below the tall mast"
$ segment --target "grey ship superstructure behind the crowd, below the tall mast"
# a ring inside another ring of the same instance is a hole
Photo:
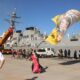
[[[10,41],[5,44],[6,48],[36,48],[44,41],[44,35],[35,27],[27,27],[24,31],[14,32]],[[47,43],[46,43],[47,44]]]

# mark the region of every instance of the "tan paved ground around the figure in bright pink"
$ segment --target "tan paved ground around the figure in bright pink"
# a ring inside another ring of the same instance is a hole
[[[48,58],[40,59],[46,72],[33,74],[31,62],[5,56],[6,62],[0,70],[0,80],[80,80],[80,60]]]

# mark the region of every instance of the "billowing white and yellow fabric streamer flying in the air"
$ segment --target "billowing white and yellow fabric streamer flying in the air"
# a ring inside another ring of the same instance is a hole
[[[52,21],[56,24],[56,27],[52,30],[46,41],[54,45],[57,44],[62,40],[67,29],[79,20],[80,11],[74,9],[71,9],[64,14],[55,16],[52,18]]]

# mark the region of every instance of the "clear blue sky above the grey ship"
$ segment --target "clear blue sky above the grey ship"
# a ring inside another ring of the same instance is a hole
[[[5,19],[16,8],[17,19],[16,30],[24,31],[26,27],[35,26],[42,33],[50,34],[56,26],[52,18],[63,14],[70,9],[80,11],[80,0],[0,0],[0,35],[10,26]],[[80,22],[71,26],[66,34],[79,33]]]

